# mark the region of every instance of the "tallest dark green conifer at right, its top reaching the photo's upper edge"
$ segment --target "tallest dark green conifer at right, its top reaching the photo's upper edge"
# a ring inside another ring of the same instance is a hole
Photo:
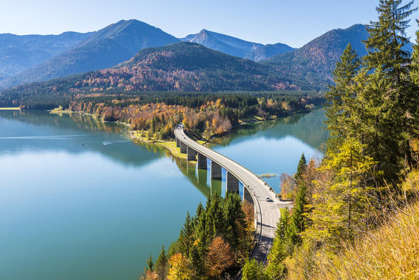
[[[380,162],[379,167],[387,169],[385,172],[386,181],[397,183],[399,173],[403,165],[397,169],[385,167],[387,163],[397,166],[401,159],[406,161],[407,165],[412,164],[412,155],[410,151],[409,139],[417,137],[419,99],[418,92],[413,90],[413,84],[410,81],[409,71],[411,69],[411,57],[409,52],[404,50],[404,45],[410,42],[406,36],[406,28],[409,27],[409,17],[417,10],[412,8],[413,1],[402,6],[402,0],[380,0],[378,7],[378,21],[371,22],[368,26],[369,38],[365,41],[368,55],[364,57],[367,67],[370,71],[383,72],[381,78],[388,80],[391,84],[390,90],[381,92],[385,96],[386,106],[382,107],[385,116],[388,116],[387,123],[379,134],[382,135],[380,141],[395,142],[396,148],[387,153],[393,153],[388,156],[390,162],[381,159],[381,155],[375,158]],[[393,132],[392,137],[388,132]],[[392,143],[394,144],[394,143]],[[385,144],[392,146],[392,144]],[[385,156],[385,155],[384,155]],[[395,184],[394,184],[395,185]]]

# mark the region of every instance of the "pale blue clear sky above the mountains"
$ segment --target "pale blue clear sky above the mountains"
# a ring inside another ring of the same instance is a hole
[[[201,29],[300,47],[334,28],[377,17],[378,0],[1,0],[0,33],[94,31],[136,19],[183,37]],[[419,5],[416,3],[416,5]],[[413,19],[419,18],[419,13]],[[411,21],[408,35],[416,39]]]

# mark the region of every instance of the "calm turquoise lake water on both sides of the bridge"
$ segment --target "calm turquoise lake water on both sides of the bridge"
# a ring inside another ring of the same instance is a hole
[[[251,125],[214,148],[257,174],[295,170],[325,134],[322,110]],[[0,279],[136,279],[222,183],[125,127],[0,111]],[[243,153],[246,151],[246,153]],[[279,179],[267,179],[278,188]]]

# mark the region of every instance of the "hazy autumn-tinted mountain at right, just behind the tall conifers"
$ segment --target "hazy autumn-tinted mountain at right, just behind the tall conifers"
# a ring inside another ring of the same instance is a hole
[[[286,75],[299,77],[308,83],[332,82],[332,71],[346,45],[350,43],[360,57],[367,55],[362,43],[369,34],[364,25],[353,25],[346,29],[333,29],[306,43],[293,52],[276,55],[264,61]],[[405,49],[412,51],[412,45]]]

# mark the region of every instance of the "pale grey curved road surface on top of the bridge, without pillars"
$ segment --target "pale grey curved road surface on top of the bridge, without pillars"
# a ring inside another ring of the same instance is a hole
[[[239,163],[230,160],[229,158],[217,153],[210,148],[206,148],[186,136],[183,128],[176,128],[175,136],[179,141],[183,142],[190,148],[193,148],[197,153],[205,155],[206,158],[213,160],[221,165],[228,172],[236,176],[244,186],[248,188],[253,200],[255,200],[255,213],[257,221],[257,240],[259,241],[253,252],[253,258],[260,262],[267,261],[267,255],[271,248],[272,241],[275,236],[276,223],[279,220],[279,205],[280,202],[276,198],[275,193],[269,190],[269,186],[260,179],[256,174],[250,172],[246,167],[239,165]],[[246,153],[246,151],[243,151]],[[267,202],[266,197],[270,197],[271,201]]]

